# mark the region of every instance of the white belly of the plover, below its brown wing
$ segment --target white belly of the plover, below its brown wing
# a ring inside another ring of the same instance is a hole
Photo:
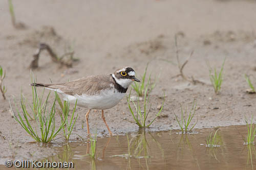
[[[104,90],[97,95],[65,95],[64,100],[75,104],[77,100],[77,106],[86,107],[89,109],[110,109],[116,106],[124,97],[125,93],[120,93],[115,89]]]

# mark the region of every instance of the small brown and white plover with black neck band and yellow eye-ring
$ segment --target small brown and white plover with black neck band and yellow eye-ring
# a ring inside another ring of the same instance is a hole
[[[135,77],[132,67],[123,67],[115,70],[113,74],[94,75],[66,83],[31,83],[31,86],[43,87],[56,91],[63,96],[63,100],[77,103],[77,106],[88,108],[86,113],[87,133],[90,135],[89,114],[92,109],[101,110],[101,117],[106,124],[104,110],[116,106],[125,96],[128,87],[133,82],[140,82]]]

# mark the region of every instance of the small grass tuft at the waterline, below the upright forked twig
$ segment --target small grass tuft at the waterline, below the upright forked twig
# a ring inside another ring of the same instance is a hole
[[[185,111],[183,111],[182,105],[180,105],[180,107],[181,107],[181,119],[180,120],[174,110],[173,110],[173,112],[174,112],[176,121],[181,129],[181,132],[187,133],[189,131],[192,131],[198,122],[198,119],[197,119],[197,122],[191,128],[188,128],[189,124],[191,123],[191,120],[193,119],[193,117],[195,115],[197,102],[194,99],[193,106],[189,111],[188,117],[187,117],[187,108],[185,108]]]

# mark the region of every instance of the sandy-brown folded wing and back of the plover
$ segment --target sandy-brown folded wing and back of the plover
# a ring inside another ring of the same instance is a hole
[[[49,88],[60,89],[70,95],[74,94],[98,94],[102,89],[110,89],[112,81],[110,75],[89,76],[67,83],[47,84]]]

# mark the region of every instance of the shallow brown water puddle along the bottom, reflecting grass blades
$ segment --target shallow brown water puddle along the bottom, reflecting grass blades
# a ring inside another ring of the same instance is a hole
[[[75,169],[253,169],[254,145],[244,145],[246,126],[221,127],[220,147],[208,148],[206,137],[216,129],[195,130],[195,134],[177,131],[145,132],[97,138],[95,159],[91,143],[73,141],[54,147],[59,153],[48,161],[72,161]]]

